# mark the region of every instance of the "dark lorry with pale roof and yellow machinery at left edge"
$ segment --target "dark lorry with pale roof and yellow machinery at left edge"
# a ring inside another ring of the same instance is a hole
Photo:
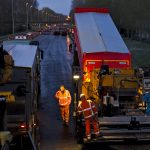
[[[37,108],[41,53],[35,41],[3,41],[0,54],[2,150],[4,147],[20,150],[39,148]]]

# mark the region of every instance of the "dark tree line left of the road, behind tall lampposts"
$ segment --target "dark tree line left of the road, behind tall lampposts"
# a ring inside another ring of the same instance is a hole
[[[27,22],[30,29],[33,24],[57,22],[65,18],[48,7],[38,9],[37,0],[0,0],[0,36],[12,33],[12,15],[15,32],[25,31]]]

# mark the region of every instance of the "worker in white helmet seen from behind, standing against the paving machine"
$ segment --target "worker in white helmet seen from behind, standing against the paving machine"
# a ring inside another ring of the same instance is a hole
[[[78,104],[78,114],[85,119],[86,138],[91,139],[91,124],[94,129],[95,137],[99,136],[98,111],[95,103],[87,100],[84,94],[80,95],[81,101]]]

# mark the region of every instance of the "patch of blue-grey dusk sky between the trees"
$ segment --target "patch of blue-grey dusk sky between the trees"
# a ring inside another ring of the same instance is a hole
[[[39,8],[49,7],[57,13],[68,15],[72,0],[38,0]]]

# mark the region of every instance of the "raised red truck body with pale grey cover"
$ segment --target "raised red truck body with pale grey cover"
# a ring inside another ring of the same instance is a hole
[[[75,42],[80,66],[85,72],[100,68],[131,68],[131,54],[108,9],[75,9]]]

